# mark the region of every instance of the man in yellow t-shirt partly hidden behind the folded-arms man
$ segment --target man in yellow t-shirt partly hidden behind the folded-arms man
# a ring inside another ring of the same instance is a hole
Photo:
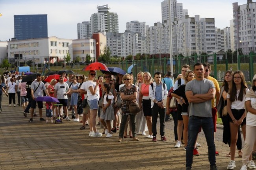
[[[215,86],[215,89],[216,89],[216,106],[218,105],[219,103],[219,96],[220,96],[220,88],[219,88],[219,83],[216,79],[214,79],[213,77],[210,76],[210,73],[211,73],[211,65],[206,62],[204,63],[204,70],[205,70],[205,73],[204,73],[204,78],[205,79],[208,79],[208,80],[211,80]],[[212,99],[211,100],[211,113],[212,113],[212,119],[213,119],[213,128],[214,128],[214,139],[215,139],[215,132],[217,130],[216,128],[216,125],[217,125],[217,108],[214,104],[214,101],[215,99]],[[219,155],[219,152],[215,152],[215,155]]]

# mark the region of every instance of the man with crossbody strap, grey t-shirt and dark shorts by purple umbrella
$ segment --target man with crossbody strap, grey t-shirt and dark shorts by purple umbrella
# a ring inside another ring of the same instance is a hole
[[[42,117],[42,108],[43,108],[43,102],[42,101],[35,101],[37,97],[43,96],[43,91],[45,91],[45,94],[49,96],[48,91],[45,88],[45,84],[41,81],[41,74],[37,74],[37,79],[34,80],[31,84],[31,96],[32,96],[32,101],[31,101],[31,112],[30,112],[30,120],[29,122],[33,122],[33,113],[35,111],[35,106],[36,103],[38,104],[38,110],[39,110],[39,120],[40,121],[45,121],[45,119]]]

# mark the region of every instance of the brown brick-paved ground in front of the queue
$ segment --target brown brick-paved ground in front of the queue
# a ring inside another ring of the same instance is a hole
[[[40,122],[38,117],[28,122],[22,107],[9,107],[3,97],[0,113],[1,170],[184,170],[185,151],[174,148],[173,122],[166,122],[167,142],[153,143],[142,135],[139,141],[130,138],[118,143],[113,137],[88,137],[89,130],[79,130],[82,123],[63,121],[63,124]],[[38,113],[38,112],[37,112]],[[43,110],[43,115],[45,111]],[[98,129],[103,132],[103,129]],[[159,128],[158,128],[159,131]],[[219,170],[225,170],[230,158],[228,145],[222,143],[222,129],[216,134],[216,156]],[[160,140],[160,136],[158,136]],[[208,170],[207,144],[203,132],[198,137],[200,156],[193,158],[194,170]],[[242,163],[237,158],[237,170]]]

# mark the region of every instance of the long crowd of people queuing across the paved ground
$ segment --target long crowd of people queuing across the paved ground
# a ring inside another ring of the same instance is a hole
[[[59,80],[52,79],[50,83],[44,83],[41,74],[37,74],[37,79],[30,82],[21,82],[22,76],[18,74],[9,75],[7,79],[2,76],[0,112],[2,93],[9,96],[9,106],[12,106],[12,103],[16,106],[17,93],[17,105],[22,106],[25,117],[30,113],[29,122],[33,122],[33,117],[36,116],[34,113],[36,104],[39,108],[39,120],[45,121],[42,113],[43,102],[35,99],[43,95],[56,97],[58,103],[46,103],[46,108],[52,110],[50,113],[46,112],[46,122],[49,117],[52,122],[52,117],[55,115],[70,121],[68,112],[71,111],[72,119],[83,123],[80,130],[89,125],[90,137],[101,137],[103,133],[106,137],[112,137],[112,133],[119,130],[119,142],[127,138],[128,126],[130,126],[129,136],[133,141],[139,141],[137,138],[139,133],[153,142],[158,141],[156,129],[158,115],[160,140],[167,141],[165,122],[170,121],[169,115],[172,115],[176,141],[174,148],[180,148],[184,143],[186,170],[192,167],[193,155],[200,155],[197,136],[201,129],[208,144],[210,169],[217,170],[215,156],[219,155],[219,152],[216,151],[214,139],[217,117],[220,117],[223,121],[223,142],[230,146],[230,153],[226,156],[230,157],[231,161],[227,169],[236,168],[234,160],[236,146],[239,157],[243,159],[241,170],[246,170],[247,167],[255,169],[252,151],[256,150],[256,75],[249,90],[243,72],[239,70],[226,71],[221,88],[217,80],[210,76],[209,63],[197,63],[193,66],[193,71],[190,70],[190,66],[184,65],[181,72],[175,82],[171,79],[170,71],[164,77],[160,72],[154,73],[154,77],[149,72],[139,72],[135,84],[133,84],[134,76],[131,74],[117,74],[114,79],[113,75],[106,72],[97,79],[93,70],[89,71],[88,77],[69,74],[66,82],[64,82],[65,73],[59,77]],[[170,107],[173,97],[177,101],[176,108]],[[118,104],[120,99],[121,104]],[[56,107],[55,104],[62,107]],[[132,112],[132,106],[136,105],[140,111]],[[63,116],[61,116],[61,108],[63,108]],[[104,127],[103,133],[97,130],[97,115],[100,121],[98,124]],[[56,117],[55,119],[58,119]],[[240,126],[245,140],[243,152]]]

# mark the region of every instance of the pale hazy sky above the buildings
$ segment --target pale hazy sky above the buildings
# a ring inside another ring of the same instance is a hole
[[[14,37],[14,15],[47,14],[48,37],[77,39],[77,23],[90,21],[97,13],[97,5],[110,7],[118,14],[119,33],[126,30],[126,22],[138,20],[148,26],[161,22],[163,0],[0,0],[0,41]],[[230,27],[233,19],[232,3],[246,4],[247,0],[177,0],[188,9],[190,17],[215,18],[215,26]],[[255,0],[253,0],[255,2]]]

